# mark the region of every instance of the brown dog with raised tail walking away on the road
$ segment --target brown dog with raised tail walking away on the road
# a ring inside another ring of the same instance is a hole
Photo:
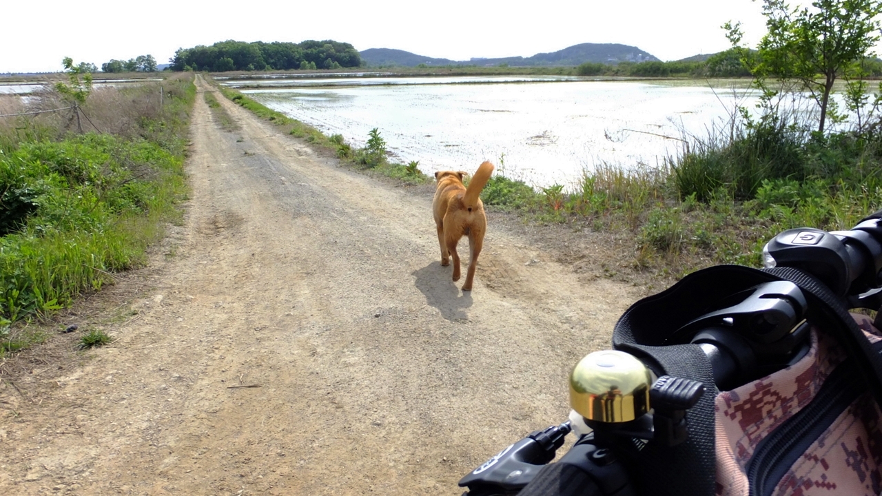
[[[437,189],[435,199],[432,201],[432,210],[435,213],[438,244],[441,245],[441,265],[449,265],[450,261],[447,257],[453,257],[453,281],[460,280],[460,255],[456,252],[456,245],[460,243],[460,237],[468,236],[471,258],[468,262],[466,283],[462,285],[463,291],[472,290],[478,254],[481,253],[484,244],[487,215],[484,214],[484,204],[478,195],[490,180],[492,173],[493,164],[483,162],[468,187],[462,184],[465,172],[439,170],[435,173]]]

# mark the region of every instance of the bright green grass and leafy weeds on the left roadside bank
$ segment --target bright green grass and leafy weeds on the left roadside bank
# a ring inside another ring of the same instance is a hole
[[[183,157],[101,134],[26,143],[0,158],[0,186],[30,206],[0,238],[0,316],[14,321],[143,263],[161,226],[180,215]]]

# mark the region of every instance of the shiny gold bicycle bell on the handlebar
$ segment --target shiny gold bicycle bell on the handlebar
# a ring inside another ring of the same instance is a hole
[[[649,411],[652,373],[624,351],[595,351],[570,372],[570,407],[586,420],[630,422]]]

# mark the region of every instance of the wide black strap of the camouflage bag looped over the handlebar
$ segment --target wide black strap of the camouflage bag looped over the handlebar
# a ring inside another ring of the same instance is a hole
[[[882,213],[880,213],[882,214]],[[684,324],[719,308],[738,291],[763,282],[790,281],[809,302],[809,319],[833,334],[845,347],[882,405],[882,358],[871,349],[848,314],[841,298],[804,272],[789,268],[755,269],[742,266],[708,267],[685,276],[669,289],[633,304],[618,320],[613,348],[647,362],[654,372],[704,382],[706,393],[686,413],[689,439],[675,447],[649,443],[640,452],[638,484],[647,494],[710,496],[714,494],[716,460],[713,370],[696,344],[665,345]]]

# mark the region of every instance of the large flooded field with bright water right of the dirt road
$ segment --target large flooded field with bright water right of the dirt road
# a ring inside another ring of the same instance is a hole
[[[507,177],[569,186],[609,163],[658,167],[689,134],[706,138],[745,82],[587,80],[564,77],[220,79],[326,134],[363,146],[378,128],[397,162],[472,171],[504,162]]]

